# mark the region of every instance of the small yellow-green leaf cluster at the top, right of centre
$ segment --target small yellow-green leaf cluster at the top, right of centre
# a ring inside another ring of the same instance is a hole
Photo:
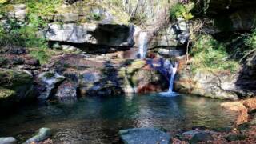
[[[193,14],[190,13],[194,7],[194,3],[188,3],[183,5],[181,3],[177,3],[170,9],[170,18],[184,18],[186,21],[194,18]]]

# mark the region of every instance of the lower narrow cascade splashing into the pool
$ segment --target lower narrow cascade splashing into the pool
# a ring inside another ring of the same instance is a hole
[[[165,97],[174,97],[177,96],[177,94],[173,91],[174,89],[174,78],[175,74],[178,69],[178,62],[175,62],[175,65],[170,64],[170,82],[169,82],[169,90],[167,92],[162,92],[160,95],[165,96]]]

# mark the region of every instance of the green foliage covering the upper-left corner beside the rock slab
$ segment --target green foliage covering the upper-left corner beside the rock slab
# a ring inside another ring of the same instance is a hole
[[[47,23],[53,18],[55,8],[61,5],[62,0],[24,0],[22,2],[26,3],[28,9],[26,22],[6,18],[6,23],[0,25],[0,46],[32,47],[34,49],[30,50],[30,54],[44,64],[50,59],[52,53],[47,50],[46,38],[39,37],[38,32],[46,28]],[[6,14],[11,7],[6,5],[1,6],[0,9],[1,14]]]

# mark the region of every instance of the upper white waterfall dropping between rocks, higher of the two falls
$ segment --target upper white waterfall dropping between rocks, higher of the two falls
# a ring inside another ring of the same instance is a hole
[[[147,45],[148,45],[148,38],[146,32],[141,32],[139,34],[139,58],[143,59],[146,58],[146,51],[147,51]]]

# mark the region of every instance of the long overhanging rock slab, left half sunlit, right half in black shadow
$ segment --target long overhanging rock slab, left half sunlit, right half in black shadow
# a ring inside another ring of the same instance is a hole
[[[134,26],[92,23],[50,23],[48,26],[45,35],[50,41],[106,46],[134,45]]]

